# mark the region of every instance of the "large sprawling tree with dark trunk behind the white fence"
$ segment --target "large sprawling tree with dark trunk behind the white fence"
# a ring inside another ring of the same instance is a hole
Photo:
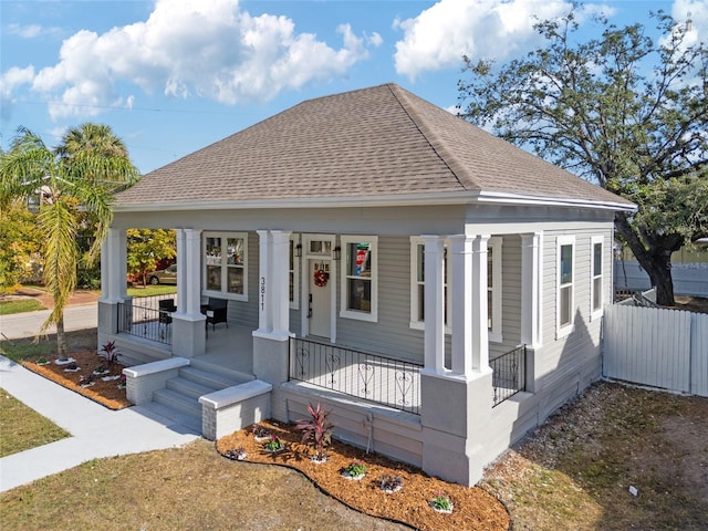
[[[576,42],[571,12],[537,30],[542,48],[497,69],[464,56],[460,114],[491,125],[638,206],[618,214],[617,233],[674,304],[671,252],[708,235],[708,48],[690,21],[654,14],[663,38],[641,24],[598,19],[602,37]]]

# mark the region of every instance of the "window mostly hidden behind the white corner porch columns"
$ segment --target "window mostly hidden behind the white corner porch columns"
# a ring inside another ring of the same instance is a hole
[[[501,237],[490,238],[487,243],[487,324],[489,341],[501,342]],[[451,330],[448,315],[451,312],[451,299],[448,296],[448,278],[450,264],[445,243],[445,324],[446,333]],[[419,237],[410,238],[410,327],[423,330],[425,326],[425,244]]]

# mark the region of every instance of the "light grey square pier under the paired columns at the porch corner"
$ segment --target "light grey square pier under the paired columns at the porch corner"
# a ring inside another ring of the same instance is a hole
[[[465,486],[482,478],[486,426],[491,421],[492,373],[472,378],[420,375],[423,470]]]

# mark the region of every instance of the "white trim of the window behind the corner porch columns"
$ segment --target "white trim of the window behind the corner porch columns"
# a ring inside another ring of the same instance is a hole
[[[493,248],[492,251],[492,327],[488,331],[489,341],[492,343],[501,343],[503,336],[501,333],[501,317],[502,317],[502,278],[501,278],[501,246],[503,239],[500,236],[489,238],[487,242],[488,248]],[[418,319],[418,246],[423,246],[423,238],[419,236],[410,237],[410,323],[409,326],[414,330],[425,330],[425,322]],[[449,241],[445,239],[445,247],[449,249]],[[446,259],[445,267],[447,269],[447,278],[450,278],[450,261]],[[447,314],[452,314],[452,298],[448,294],[447,298]],[[489,309],[488,309],[489,311]],[[449,325],[445,325],[445,333],[451,334],[452,329]]]

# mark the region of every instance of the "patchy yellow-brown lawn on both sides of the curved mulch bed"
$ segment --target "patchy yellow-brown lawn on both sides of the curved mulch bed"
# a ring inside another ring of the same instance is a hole
[[[707,464],[708,398],[601,383],[507,451],[481,487],[516,531],[699,531]],[[13,489],[0,494],[0,521],[3,531],[407,529],[347,509],[295,471],[225,459],[206,440]]]

